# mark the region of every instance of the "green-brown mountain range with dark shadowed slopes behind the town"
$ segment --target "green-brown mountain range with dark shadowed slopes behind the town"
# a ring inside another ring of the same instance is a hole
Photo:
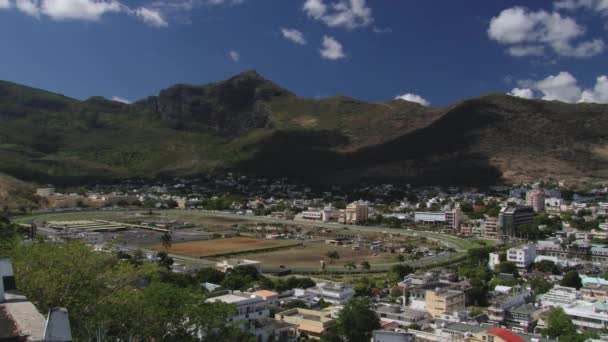
[[[254,71],[133,104],[0,82],[0,172],[72,185],[239,171],[311,183],[608,179],[608,105],[301,98]]]

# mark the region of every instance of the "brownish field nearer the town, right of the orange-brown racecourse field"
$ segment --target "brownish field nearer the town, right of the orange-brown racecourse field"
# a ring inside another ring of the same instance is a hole
[[[325,242],[306,243],[303,246],[293,247],[272,252],[265,252],[252,255],[243,255],[244,258],[261,261],[265,266],[293,266],[293,267],[316,267],[321,260],[325,260],[329,265],[330,259],[325,256],[327,252],[337,251],[340,259],[334,260],[334,266],[344,265],[347,262],[359,264],[366,260],[370,264],[381,264],[395,262],[397,254],[374,252],[370,250],[354,251],[349,247],[329,245]],[[377,255],[374,255],[377,254]]]

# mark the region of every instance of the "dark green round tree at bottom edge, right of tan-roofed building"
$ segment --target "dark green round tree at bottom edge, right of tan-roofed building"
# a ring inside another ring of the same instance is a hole
[[[336,328],[342,341],[368,342],[373,331],[380,329],[380,319],[367,298],[353,298],[338,314]]]

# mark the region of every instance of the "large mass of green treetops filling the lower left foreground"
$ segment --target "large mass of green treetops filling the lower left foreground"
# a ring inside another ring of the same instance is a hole
[[[10,251],[18,288],[45,312],[66,307],[77,340],[92,340],[102,329],[113,339],[195,340],[189,329],[210,336],[233,332],[229,306],[207,304],[197,289],[160,282],[154,264],[121,263],[80,243],[16,245]],[[138,287],[139,280],[150,280]]]

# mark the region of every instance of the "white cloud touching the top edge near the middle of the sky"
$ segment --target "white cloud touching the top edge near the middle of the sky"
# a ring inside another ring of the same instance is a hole
[[[340,0],[330,5],[324,0],[306,0],[302,6],[306,15],[329,27],[355,29],[374,22],[372,9],[365,0]]]

